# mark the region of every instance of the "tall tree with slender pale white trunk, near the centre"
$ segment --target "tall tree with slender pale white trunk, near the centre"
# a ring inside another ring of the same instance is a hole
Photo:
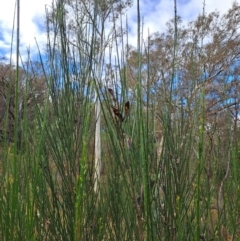
[[[89,46],[86,64],[88,74],[86,78],[95,84],[95,184],[94,190],[98,192],[101,171],[101,86],[104,83],[105,64],[111,61],[106,57],[106,51],[111,55],[116,36],[119,16],[131,5],[131,0],[80,0],[63,1],[67,11],[69,42],[72,47],[80,43]],[[79,51],[82,51],[79,49]],[[109,56],[108,55],[108,56]],[[81,60],[80,60],[81,61]]]

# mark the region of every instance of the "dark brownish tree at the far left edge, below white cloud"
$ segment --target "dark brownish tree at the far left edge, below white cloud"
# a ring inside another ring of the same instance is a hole
[[[28,68],[19,67],[19,106],[18,141],[21,141],[22,122],[26,117],[32,123],[35,106],[43,105],[46,100],[46,79],[39,70],[39,63],[31,63]],[[26,67],[27,65],[25,65]],[[0,63],[0,131],[9,141],[13,141],[15,115],[15,76],[16,67],[1,61]]]

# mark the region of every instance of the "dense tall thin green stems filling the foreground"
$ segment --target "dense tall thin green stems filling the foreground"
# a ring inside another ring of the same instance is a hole
[[[173,91],[165,106],[151,99],[150,69],[143,92],[141,54],[148,52],[139,20],[137,87],[129,86],[123,65],[110,86],[122,114],[130,99],[130,113],[121,123],[112,113],[109,86],[98,79],[99,69],[100,76],[106,72],[97,60],[107,61],[104,51],[104,57],[98,55],[98,29],[92,27],[100,21],[98,13],[74,15],[81,32],[73,45],[62,5],[54,10],[47,18],[49,65],[41,63],[46,102],[35,103],[33,123],[24,114],[19,152],[16,144],[1,143],[0,240],[239,240],[239,143],[228,124],[225,139],[206,131],[204,91],[185,118],[184,109],[173,109]],[[176,33],[175,38],[177,49]],[[117,39],[111,41],[109,46]],[[102,110],[100,198],[94,192],[94,93]]]

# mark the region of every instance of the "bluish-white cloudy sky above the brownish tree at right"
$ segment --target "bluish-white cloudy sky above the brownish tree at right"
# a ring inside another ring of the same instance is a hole
[[[133,33],[130,34],[129,42],[136,46],[137,22],[136,22],[136,1],[129,10],[131,16],[130,25]],[[178,0],[177,15],[181,16],[183,24],[194,20],[199,14],[203,13],[203,1],[200,0]],[[240,0],[236,2],[240,3]],[[221,14],[226,13],[231,8],[233,1],[205,0],[205,13],[218,10]],[[174,18],[174,1],[170,0],[141,0],[141,17],[144,21],[144,39],[150,33],[164,32],[166,23]]]

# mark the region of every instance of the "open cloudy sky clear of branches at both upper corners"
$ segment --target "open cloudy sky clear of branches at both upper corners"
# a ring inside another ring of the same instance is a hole
[[[21,0],[20,10],[20,46],[23,59],[27,59],[27,49],[31,54],[37,54],[35,38],[40,47],[46,43],[44,31],[45,7],[51,5],[52,0]],[[231,6],[231,0],[205,0],[205,11],[207,13],[217,9],[225,13]],[[240,3],[240,0],[237,0]],[[182,17],[183,24],[197,17],[203,9],[203,0],[177,0],[178,15]],[[15,0],[0,2],[0,57],[9,57],[13,29]],[[140,0],[141,16],[144,19],[144,37],[148,31],[163,32],[166,22],[174,17],[174,0]],[[128,22],[131,29],[129,42],[135,45],[136,25],[136,0],[131,9],[128,10]],[[16,25],[15,25],[16,28]],[[15,38],[14,38],[15,41]],[[15,42],[13,44],[13,48]],[[15,53],[15,52],[14,52]]]

